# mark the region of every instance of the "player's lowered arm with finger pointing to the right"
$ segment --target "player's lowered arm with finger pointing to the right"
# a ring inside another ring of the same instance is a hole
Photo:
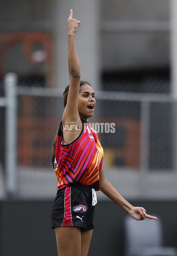
[[[157,219],[156,217],[146,214],[146,210],[143,207],[134,207],[127,202],[115,188],[107,181],[104,176],[103,167],[101,168],[100,174],[100,188],[101,191],[110,198],[114,203],[119,205],[124,211],[128,212],[135,220],[144,220],[145,218]]]

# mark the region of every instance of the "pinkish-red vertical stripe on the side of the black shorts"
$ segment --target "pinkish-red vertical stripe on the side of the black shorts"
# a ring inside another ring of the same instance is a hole
[[[71,216],[71,187],[65,189],[65,216],[61,226],[72,226]]]

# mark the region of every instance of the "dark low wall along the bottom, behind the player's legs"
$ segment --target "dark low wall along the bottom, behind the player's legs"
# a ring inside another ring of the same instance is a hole
[[[131,201],[158,215],[163,224],[164,245],[177,246],[176,201]],[[58,255],[55,232],[50,228],[52,201],[4,201],[0,203],[0,256]],[[96,205],[88,256],[124,255],[126,212],[111,201]]]

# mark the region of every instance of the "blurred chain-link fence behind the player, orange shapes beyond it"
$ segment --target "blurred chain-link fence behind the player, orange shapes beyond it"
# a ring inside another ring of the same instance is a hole
[[[61,90],[39,87],[17,87],[20,198],[45,199],[56,192],[51,150],[64,110],[63,96]],[[165,93],[96,92],[95,115],[89,122],[104,148],[105,175],[123,196],[176,198],[175,106]],[[4,159],[4,108],[0,111]]]

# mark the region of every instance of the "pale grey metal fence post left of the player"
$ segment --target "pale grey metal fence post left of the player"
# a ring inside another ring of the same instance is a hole
[[[17,75],[4,77],[6,93],[6,190],[9,196],[17,192]]]

